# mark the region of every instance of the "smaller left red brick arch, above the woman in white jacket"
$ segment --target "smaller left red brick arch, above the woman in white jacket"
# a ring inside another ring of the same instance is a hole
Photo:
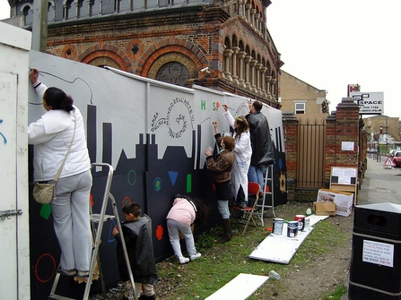
[[[128,56],[118,47],[111,45],[89,47],[78,56],[77,61],[83,64],[91,64],[92,60],[102,57],[112,59],[119,65],[120,70],[132,73],[132,64],[129,63]]]

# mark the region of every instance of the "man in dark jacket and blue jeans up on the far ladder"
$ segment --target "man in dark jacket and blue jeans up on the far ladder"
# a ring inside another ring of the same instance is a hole
[[[262,188],[259,197],[263,197],[266,168],[275,163],[273,141],[270,136],[269,124],[262,110],[262,102],[249,102],[249,114],[245,116],[249,124],[250,145],[252,157],[248,170],[248,182],[257,183]]]

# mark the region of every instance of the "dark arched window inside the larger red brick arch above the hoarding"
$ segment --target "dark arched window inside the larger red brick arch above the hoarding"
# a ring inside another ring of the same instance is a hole
[[[163,64],[156,73],[156,80],[171,83],[179,86],[185,86],[189,79],[189,71],[184,64],[170,62]]]

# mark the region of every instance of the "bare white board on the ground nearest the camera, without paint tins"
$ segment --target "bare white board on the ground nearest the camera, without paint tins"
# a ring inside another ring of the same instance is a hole
[[[240,273],[224,287],[220,288],[205,300],[244,300],[248,299],[258,287],[263,285],[268,276],[252,275]]]

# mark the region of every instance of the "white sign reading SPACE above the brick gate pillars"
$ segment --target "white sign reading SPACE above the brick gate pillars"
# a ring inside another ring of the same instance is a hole
[[[384,112],[384,93],[382,91],[355,91],[350,97],[359,106],[360,115],[381,115]]]

